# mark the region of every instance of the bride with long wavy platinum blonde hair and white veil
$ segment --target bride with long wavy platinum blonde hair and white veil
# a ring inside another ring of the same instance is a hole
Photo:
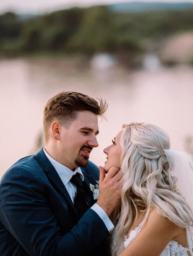
[[[124,125],[112,142],[104,149],[104,169],[108,172],[115,166],[123,172],[122,205],[113,218],[118,223],[111,237],[112,255],[192,256],[192,156],[168,150],[168,135],[144,123]],[[174,175],[181,175],[179,184]]]

